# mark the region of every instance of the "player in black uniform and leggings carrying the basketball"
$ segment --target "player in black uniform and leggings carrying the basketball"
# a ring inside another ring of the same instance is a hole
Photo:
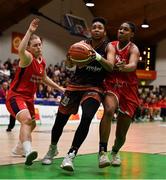
[[[73,171],[73,160],[85,140],[90,123],[100,106],[103,90],[102,83],[106,76],[106,70],[112,71],[115,60],[115,49],[105,40],[106,29],[103,18],[95,18],[91,26],[92,39],[87,40],[95,49],[95,57],[84,67],[76,67],[75,75],[66,88],[64,97],[60,102],[57,117],[52,128],[51,145],[42,160],[42,164],[49,165],[53,162],[53,157],[57,154],[57,143],[62,134],[63,128],[71,114],[76,114],[81,105],[82,116],[80,124],[74,135],[74,139],[69,152],[64,158],[61,168]],[[107,47],[107,57],[106,57]],[[97,52],[96,52],[97,51]],[[98,54],[99,53],[99,54]],[[107,58],[107,60],[105,59]],[[72,66],[70,59],[67,60],[68,66]]]

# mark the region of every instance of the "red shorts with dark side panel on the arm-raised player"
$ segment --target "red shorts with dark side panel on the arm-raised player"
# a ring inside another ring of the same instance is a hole
[[[23,109],[28,109],[32,118],[35,117],[35,108],[33,99],[27,100],[27,98],[14,96],[6,100],[6,107],[9,113],[16,117],[16,115]]]

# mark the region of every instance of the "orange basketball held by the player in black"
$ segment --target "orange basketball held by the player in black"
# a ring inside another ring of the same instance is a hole
[[[70,46],[68,56],[76,64],[87,64],[92,59],[93,49],[85,42],[78,42]]]

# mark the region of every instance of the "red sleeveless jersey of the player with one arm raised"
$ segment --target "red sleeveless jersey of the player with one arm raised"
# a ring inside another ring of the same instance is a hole
[[[33,99],[37,90],[37,84],[42,81],[45,67],[44,59],[39,63],[34,57],[29,66],[25,68],[18,67],[15,77],[10,84],[7,99],[18,95]]]

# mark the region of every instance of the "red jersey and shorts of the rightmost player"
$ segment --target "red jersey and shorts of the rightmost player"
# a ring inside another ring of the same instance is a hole
[[[129,42],[123,49],[118,48],[119,41],[113,41],[111,44],[116,50],[116,61],[124,61],[129,63],[130,48],[134,45]],[[116,96],[120,110],[130,117],[134,115],[135,109],[139,105],[137,76],[136,72],[121,72],[114,70],[108,73],[104,87],[107,93],[112,93]]]

